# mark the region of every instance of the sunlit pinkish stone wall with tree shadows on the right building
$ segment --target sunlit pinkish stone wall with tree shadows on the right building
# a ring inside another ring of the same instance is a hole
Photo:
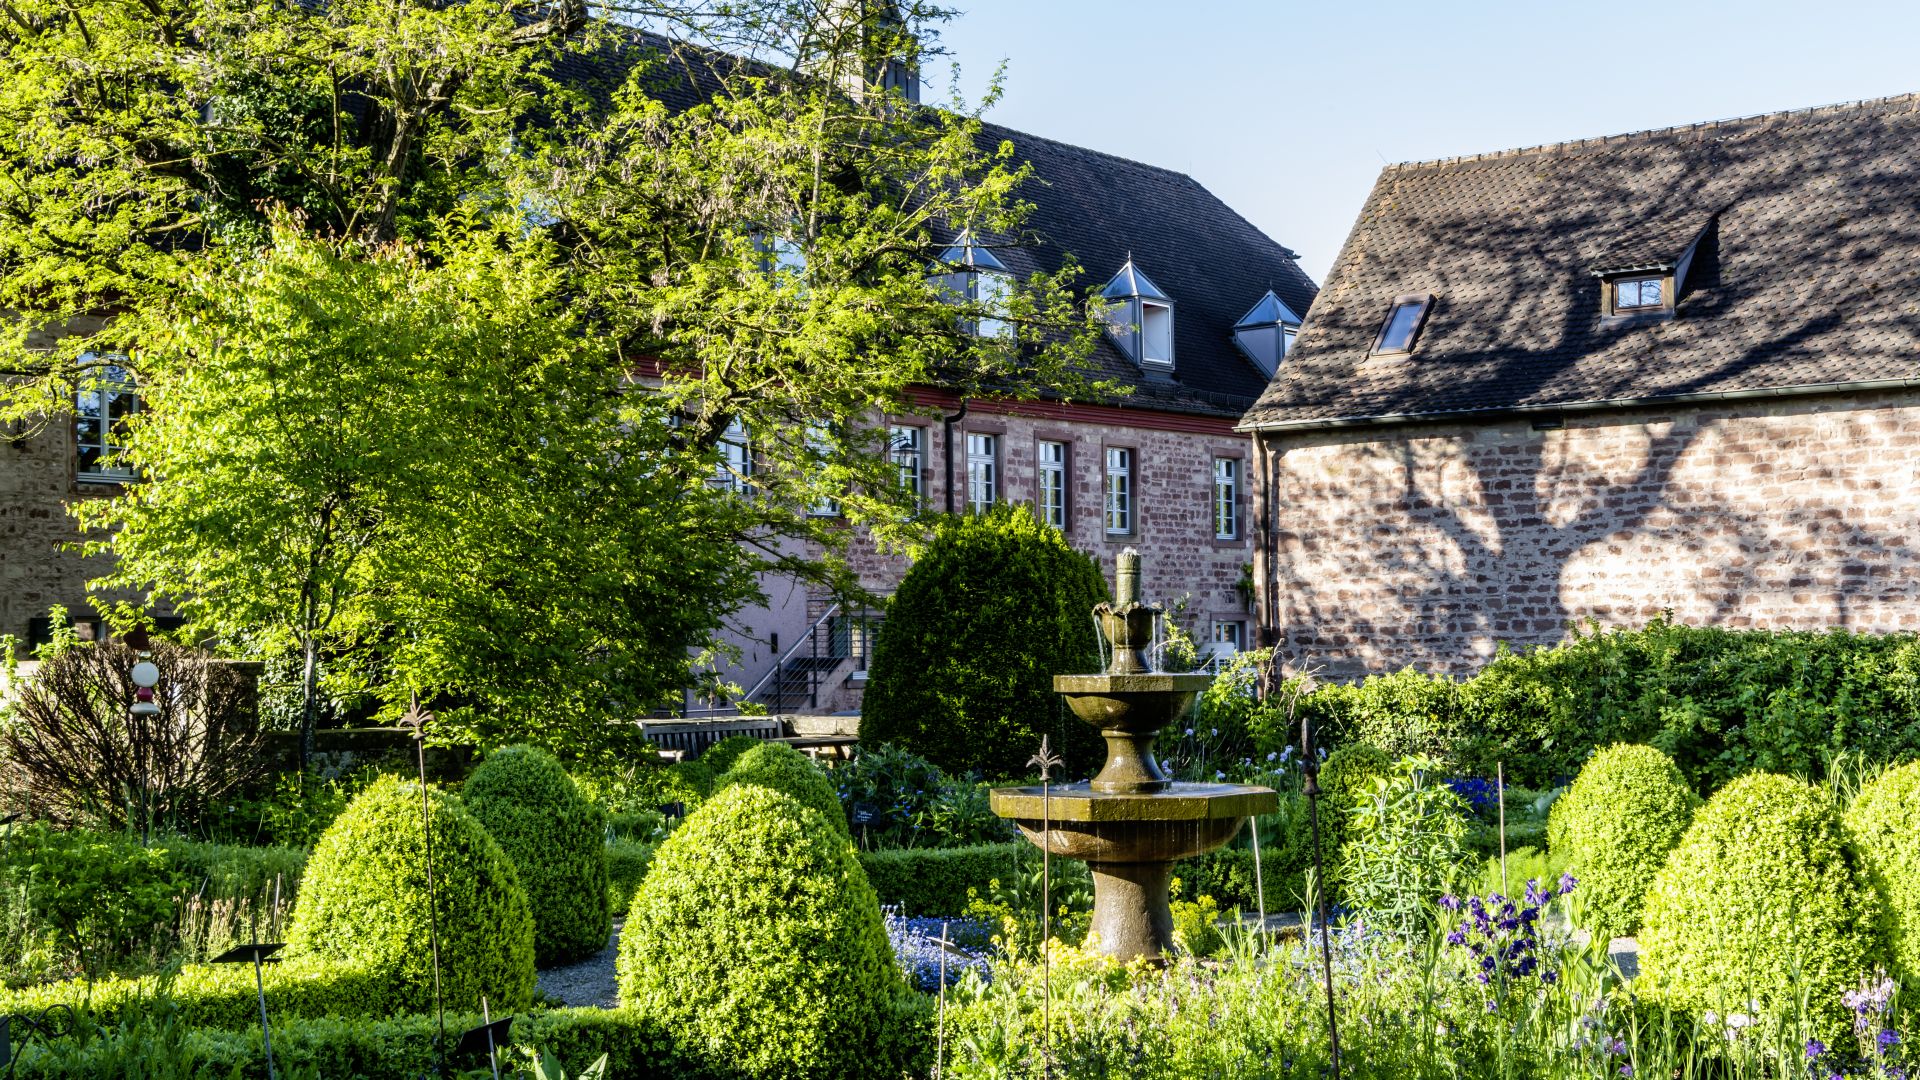
[[[1267,436],[1296,665],[1467,673],[1596,619],[1920,628],[1920,394]],[[1271,611],[1271,619],[1269,613]]]

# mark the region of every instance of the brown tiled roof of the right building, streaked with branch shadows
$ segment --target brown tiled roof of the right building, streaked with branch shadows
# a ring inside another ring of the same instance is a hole
[[[1672,265],[1670,319],[1599,271]],[[1396,296],[1413,354],[1371,357]],[[1380,173],[1242,429],[1407,423],[1920,380],[1920,96]]]

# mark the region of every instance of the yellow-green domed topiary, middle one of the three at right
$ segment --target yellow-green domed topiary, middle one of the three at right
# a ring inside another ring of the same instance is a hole
[[[1720,788],[1647,888],[1642,995],[1693,1013],[1793,1013],[1849,1032],[1841,994],[1885,957],[1880,899],[1839,809],[1809,784],[1755,773]]]

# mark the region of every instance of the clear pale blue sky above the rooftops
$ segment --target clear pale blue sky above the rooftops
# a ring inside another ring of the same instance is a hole
[[[1315,281],[1382,161],[1920,90],[1916,0],[950,2],[989,119],[1188,173]]]

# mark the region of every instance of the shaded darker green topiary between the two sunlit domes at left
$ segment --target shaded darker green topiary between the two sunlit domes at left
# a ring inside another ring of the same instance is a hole
[[[493,751],[467,778],[467,809],[513,861],[534,911],[540,967],[607,947],[607,813],[588,801],[551,753]]]

